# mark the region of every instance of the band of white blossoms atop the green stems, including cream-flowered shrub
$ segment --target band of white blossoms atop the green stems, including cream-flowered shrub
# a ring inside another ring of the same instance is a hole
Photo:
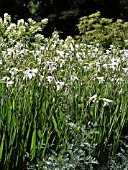
[[[47,22],[44,19],[41,24]],[[14,24],[8,14],[4,15],[3,21],[0,19],[3,35],[8,39],[7,42],[0,39],[0,66],[3,69],[0,81],[7,87],[18,79],[31,81],[38,77],[39,86],[43,82],[55,86],[56,91],[68,93],[78,82],[81,86],[86,82],[86,88],[90,89],[92,84],[99,88],[109,84],[110,88],[113,83],[120,85],[128,81],[128,50],[110,47],[103,52],[98,45],[76,43],[71,36],[61,40],[57,31],[51,38],[44,38],[42,34],[35,34],[42,30],[41,24],[32,19],[28,19],[28,23],[21,19]],[[34,41],[29,42],[31,38]],[[121,86],[119,92],[123,92]],[[90,93],[89,101],[97,100],[97,94]],[[105,97],[102,101],[104,105],[112,102]]]

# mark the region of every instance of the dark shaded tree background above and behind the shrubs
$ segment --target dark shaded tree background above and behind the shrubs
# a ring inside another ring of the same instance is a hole
[[[128,19],[128,0],[0,0],[0,9],[1,17],[9,13],[15,21],[48,17],[49,23],[43,30],[45,36],[57,30],[63,32],[62,38],[78,34],[79,18],[97,11],[105,18]]]

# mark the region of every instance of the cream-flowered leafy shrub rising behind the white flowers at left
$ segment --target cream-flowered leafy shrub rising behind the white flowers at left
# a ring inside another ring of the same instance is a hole
[[[32,42],[36,43],[37,37],[38,41],[43,41],[44,36],[39,34],[46,26],[48,19],[43,19],[41,22],[35,22],[31,18],[28,22],[24,19],[17,21],[17,24],[11,23],[11,16],[7,13],[4,14],[4,20],[0,18],[0,32],[1,32],[1,47],[0,49],[11,47],[16,43],[23,43],[27,48]],[[36,35],[36,36],[35,36]],[[22,45],[23,45],[22,44]],[[32,44],[33,45],[33,44]],[[21,44],[19,44],[21,47]]]

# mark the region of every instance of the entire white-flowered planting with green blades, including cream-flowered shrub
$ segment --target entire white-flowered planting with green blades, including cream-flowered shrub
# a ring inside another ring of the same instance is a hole
[[[127,151],[128,51],[44,38],[46,23],[0,19],[0,169],[112,167]]]

